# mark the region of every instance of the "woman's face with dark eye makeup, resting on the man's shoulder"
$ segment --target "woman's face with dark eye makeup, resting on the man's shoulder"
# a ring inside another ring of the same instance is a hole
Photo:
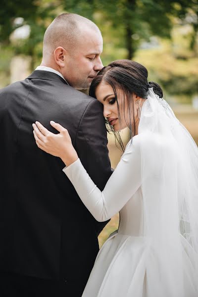
[[[101,82],[96,89],[96,97],[103,104],[104,117],[108,119],[109,124],[113,126],[115,131],[119,131],[128,127],[127,123],[129,124],[129,113],[127,100],[123,96],[123,91],[116,89],[116,93],[119,105],[119,113],[112,87],[109,84]],[[134,96],[135,95],[133,95],[133,97]],[[138,117],[136,109],[134,115],[136,119]]]

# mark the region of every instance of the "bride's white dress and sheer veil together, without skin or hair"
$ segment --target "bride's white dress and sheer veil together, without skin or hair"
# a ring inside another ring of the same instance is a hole
[[[149,89],[102,192],[79,159],[63,171],[97,220],[121,215],[83,297],[198,297],[198,148],[165,100]]]

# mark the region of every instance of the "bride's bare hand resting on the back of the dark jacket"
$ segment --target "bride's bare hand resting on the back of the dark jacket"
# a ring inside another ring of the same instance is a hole
[[[77,152],[72,145],[69,133],[67,129],[63,128],[58,123],[50,121],[50,124],[60,133],[51,133],[39,122],[32,124],[36,144],[39,148],[53,156],[60,157],[65,165],[69,166],[78,159]]]

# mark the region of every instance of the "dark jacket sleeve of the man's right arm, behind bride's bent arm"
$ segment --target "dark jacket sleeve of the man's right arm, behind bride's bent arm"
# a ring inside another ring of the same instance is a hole
[[[108,156],[103,107],[97,99],[93,99],[88,104],[81,118],[74,147],[89,176],[102,191],[112,171]],[[107,223],[108,221],[96,221],[98,235]]]

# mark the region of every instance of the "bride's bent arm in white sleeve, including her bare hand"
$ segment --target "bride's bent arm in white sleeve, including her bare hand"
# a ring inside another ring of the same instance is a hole
[[[57,126],[55,128],[57,129]],[[39,129],[41,130],[41,127]],[[61,127],[57,130],[60,132],[61,129],[64,128]],[[120,162],[101,192],[86,172],[75,149],[71,147],[67,130],[64,133],[65,137],[62,139],[60,136],[57,139],[57,135],[52,134],[51,140],[43,139],[44,142],[41,142],[40,138],[36,136],[37,145],[43,150],[62,158],[67,166],[63,171],[70,179],[85,206],[98,221],[106,221],[126,204],[141,185],[141,155],[138,136],[134,137],[133,143],[126,148]]]

